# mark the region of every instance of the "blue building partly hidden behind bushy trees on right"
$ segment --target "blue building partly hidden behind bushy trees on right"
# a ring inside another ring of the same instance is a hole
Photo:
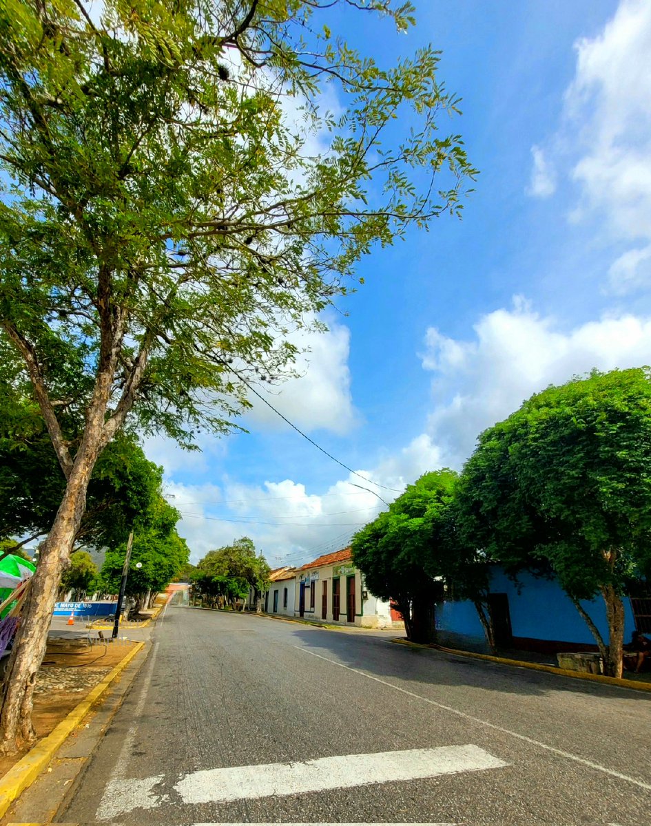
[[[595,638],[579,615],[573,602],[554,579],[534,577],[523,572],[513,582],[499,567],[491,577],[490,607],[496,629],[496,641],[502,648],[556,653],[561,651],[597,650]],[[648,630],[649,600],[624,599],[625,640],[637,627]],[[606,644],[608,623],[606,605],[601,597],[583,601]],[[469,601],[443,601],[436,606],[436,629],[443,644],[465,643],[484,650],[486,638],[477,611]]]

